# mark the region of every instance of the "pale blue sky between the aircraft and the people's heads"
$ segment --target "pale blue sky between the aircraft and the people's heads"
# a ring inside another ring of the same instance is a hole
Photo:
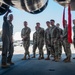
[[[16,32],[21,32],[23,26],[23,22],[27,21],[28,26],[31,28],[31,31],[35,31],[36,22],[40,22],[41,27],[44,29],[47,28],[46,21],[50,21],[50,19],[55,20],[56,23],[60,23],[60,27],[62,27],[62,14],[64,7],[54,2],[53,0],[49,0],[48,6],[46,9],[39,14],[30,14],[26,11],[10,8],[12,10],[12,14],[14,15],[13,25],[14,25],[14,34]],[[72,19],[75,18],[75,11],[72,11]],[[67,19],[67,8],[66,8],[66,19]],[[3,16],[0,16],[0,28],[2,28],[3,24]]]

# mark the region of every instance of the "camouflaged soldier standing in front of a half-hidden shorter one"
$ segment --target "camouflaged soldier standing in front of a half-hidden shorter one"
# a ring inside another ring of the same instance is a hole
[[[39,58],[44,59],[43,46],[44,46],[44,29],[40,27],[40,23],[36,23],[37,26],[37,45],[39,48]]]

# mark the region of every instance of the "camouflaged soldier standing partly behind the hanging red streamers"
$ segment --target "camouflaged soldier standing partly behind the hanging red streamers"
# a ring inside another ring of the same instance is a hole
[[[64,62],[70,62],[71,61],[71,49],[70,49],[70,43],[68,43],[68,27],[67,27],[67,21],[64,20],[65,26],[63,30],[63,44],[64,44],[64,51],[66,54],[66,58],[63,60]]]

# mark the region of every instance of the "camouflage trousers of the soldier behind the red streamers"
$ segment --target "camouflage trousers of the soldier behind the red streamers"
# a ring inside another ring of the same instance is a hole
[[[63,40],[64,44],[64,51],[67,57],[71,57],[71,49],[70,49],[70,43],[68,43],[67,38]]]

